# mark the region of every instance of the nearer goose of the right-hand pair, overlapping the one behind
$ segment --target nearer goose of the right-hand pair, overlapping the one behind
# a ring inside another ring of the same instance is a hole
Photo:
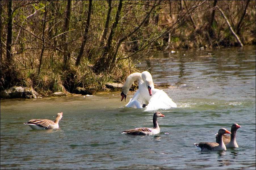
[[[215,142],[200,142],[200,143],[194,143],[194,145],[200,150],[201,152],[207,152],[207,151],[226,151],[226,146],[224,145],[222,136],[225,133],[231,134],[228,130],[225,128],[221,128],[218,132],[218,143]]]

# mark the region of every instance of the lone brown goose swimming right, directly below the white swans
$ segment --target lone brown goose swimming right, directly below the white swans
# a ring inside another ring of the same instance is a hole
[[[125,130],[121,133],[131,134],[131,135],[155,135],[155,134],[158,134],[160,132],[160,128],[157,123],[158,117],[164,117],[164,115],[161,114],[160,112],[154,113],[154,116],[153,116],[154,128],[146,128],[146,127],[145,128],[135,128],[135,129]]]

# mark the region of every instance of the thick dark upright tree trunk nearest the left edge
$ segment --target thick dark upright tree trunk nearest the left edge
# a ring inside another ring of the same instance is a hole
[[[12,0],[8,1],[8,24],[7,24],[7,40],[6,40],[6,59],[11,66],[12,64]]]

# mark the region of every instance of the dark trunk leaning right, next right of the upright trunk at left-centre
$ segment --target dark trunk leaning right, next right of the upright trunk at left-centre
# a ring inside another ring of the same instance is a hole
[[[93,6],[93,5],[92,5],[92,0],[90,0],[90,1],[89,1],[89,8],[88,8],[87,20],[86,20],[86,25],[85,25],[85,34],[83,35],[83,42],[82,42],[82,45],[81,45],[79,54],[78,54],[77,59],[76,59],[76,62],[75,62],[75,65],[76,65],[76,66],[79,66],[79,65],[80,65],[80,62],[81,62],[81,59],[82,59],[82,56],[83,56],[83,51],[84,51],[85,43],[86,43],[87,38],[88,38],[87,35],[88,35],[88,32],[89,32],[89,27],[90,27],[92,6]]]

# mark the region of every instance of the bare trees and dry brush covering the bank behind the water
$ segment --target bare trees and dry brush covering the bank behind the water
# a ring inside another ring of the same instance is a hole
[[[1,1],[1,91],[105,89],[157,50],[255,45],[255,1]]]

